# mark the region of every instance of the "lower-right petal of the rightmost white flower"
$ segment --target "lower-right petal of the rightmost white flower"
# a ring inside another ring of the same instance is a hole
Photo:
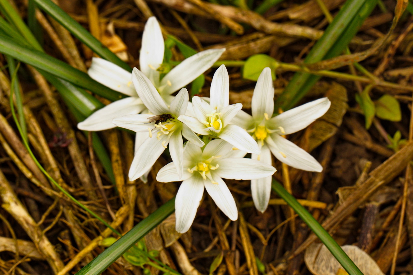
[[[305,171],[321,172],[323,170],[323,167],[312,155],[276,133],[272,134],[271,137],[267,136],[266,143],[271,153],[280,162]]]

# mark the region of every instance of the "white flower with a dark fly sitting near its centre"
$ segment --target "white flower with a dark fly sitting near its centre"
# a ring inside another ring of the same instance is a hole
[[[141,133],[146,132],[146,139],[135,151],[129,169],[129,179],[132,181],[145,174],[161,153],[164,152],[168,144],[176,171],[178,175],[182,175],[182,136],[199,147],[204,145],[204,142],[188,126],[177,120],[178,116],[184,114],[188,107],[188,91],[182,88],[171,102],[171,106],[168,107],[154,85],[137,68],[133,69],[132,81],[140,99],[151,114],[125,115],[112,121],[116,126],[139,133],[138,136],[140,137],[142,136]]]

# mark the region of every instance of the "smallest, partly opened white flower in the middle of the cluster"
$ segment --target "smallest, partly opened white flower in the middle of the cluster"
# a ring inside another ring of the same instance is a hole
[[[212,78],[210,99],[211,102],[207,103],[199,96],[194,96],[192,104],[196,118],[180,115],[178,120],[195,133],[212,135],[228,141],[242,151],[259,154],[256,141],[241,127],[230,124],[241,110],[242,104],[229,105],[229,77],[224,65],[218,68]]]

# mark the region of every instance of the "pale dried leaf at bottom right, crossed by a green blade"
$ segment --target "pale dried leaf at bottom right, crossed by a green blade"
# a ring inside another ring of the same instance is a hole
[[[384,275],[370,255],[360,248],[355,245],[344,245],[342,246],[342,249],[364,275]],[[314,275],[347,274],[343,273],[343,267],[324,244],[311,244],[305,251],[304,261],[307,268]],[[343,271],[339,271],[340,269]]]

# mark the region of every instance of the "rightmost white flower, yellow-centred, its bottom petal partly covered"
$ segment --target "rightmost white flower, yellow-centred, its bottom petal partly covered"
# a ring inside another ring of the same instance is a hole
[[[314,157],[281,135],[295,133],[310,125],[327,112],[330,100],[326,97],[317,99],[271,118],[274,112],[273,99],[271,69],[265,68],[252,96],[252,116],[240,111],[232,121],[247,129],[261,147],[261,154],[252,154],[252,158],[271,165],[273,153],[278,160],[294,168],[321,172],[323,168]],[[271,177],[252,180],[251,191],[255,207],[264,212],[270,199]]]

